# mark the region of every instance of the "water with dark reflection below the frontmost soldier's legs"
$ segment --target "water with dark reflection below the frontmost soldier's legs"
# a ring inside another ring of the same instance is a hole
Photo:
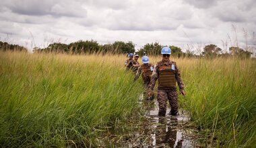
[[[153,147],[193,147],[187,139],[183,138],[183,131],[179,130],[177,127],[179,124],[189,121],[189,116],[184,114],[181,110],[181,115],[174,116],[158,116],[157,102],[146,101],[143,102],[143,106],[146,110],[146,117],[149,122],[152,122],[152,145]],[[170,108],[167,109],[167,112]],[[148,129],[146,128],[146,131]],[[184,145],[183,145],[184,143]]]

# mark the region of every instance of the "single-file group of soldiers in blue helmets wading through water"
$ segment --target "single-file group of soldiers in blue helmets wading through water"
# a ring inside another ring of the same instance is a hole
[[[150,59],[148,56],[142,57],[142,65],[139,65],[137,61],[139,55],[135,54],[133,59],[133,54],[129,54],[129,59],[125,61],[125,66],[127,71],[133,71],[135,73],[135,80],[141,75],[143,79],[143,86],[146,89],[144,93],[148,100],[154,99],[154,86],[158,80],[158,94],[157,100],[159,104],[158,116],[166,115],[167,102],[170,104],[169,114],[172,116],[179,115],[178,108],[178,94],[176,82],[179,85],[179,91],[183,96],[185,93],[185,86],[183,80],[181,79],[181,72],[179,71],[177,64],[174,61],[170,61],[171,50],[169,47],[162,48],[161,51],[162,60],[156,65],[149,63]]]

